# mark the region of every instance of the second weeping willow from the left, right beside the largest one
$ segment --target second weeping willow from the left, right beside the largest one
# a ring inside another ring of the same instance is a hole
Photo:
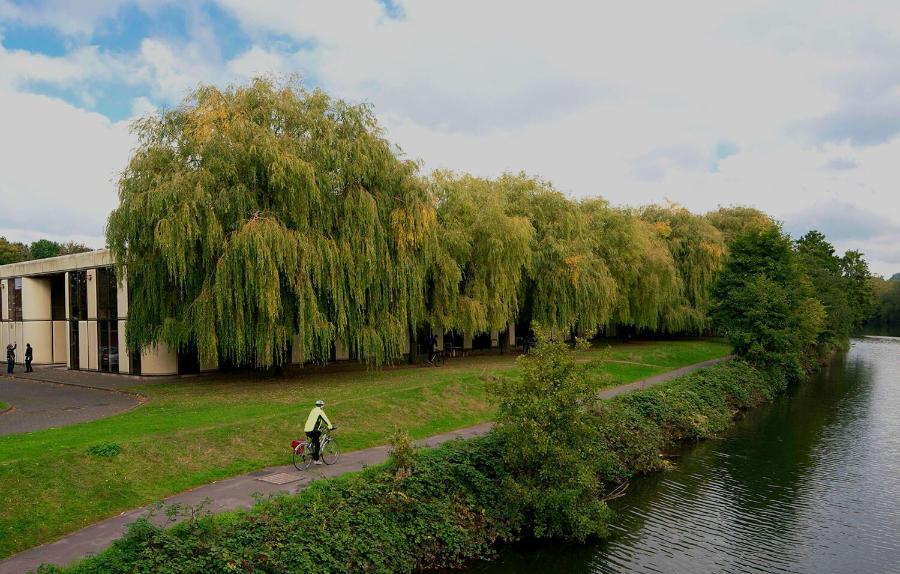
[[[438,232],[430,272],[430,322],[439,329],[503,330],[519,311],[519,282],[534,229],[509,213],[500,182],[432,174]]]

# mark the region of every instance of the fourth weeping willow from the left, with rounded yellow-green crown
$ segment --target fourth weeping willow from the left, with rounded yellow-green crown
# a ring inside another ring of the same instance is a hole
[[[594,253],[609,268],[618,297],[610,323],[663,330],[671,302],[680,293],[675,262],[653,225],[633,211],[615,209],[599,198],[580,204],[587,217]]]

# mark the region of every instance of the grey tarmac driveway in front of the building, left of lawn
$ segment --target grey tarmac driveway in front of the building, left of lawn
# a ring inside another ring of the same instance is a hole
[[[40,380],[0,379],[0,435],[31,432],[109,417],[141,404],[137,395],[60,385]]]

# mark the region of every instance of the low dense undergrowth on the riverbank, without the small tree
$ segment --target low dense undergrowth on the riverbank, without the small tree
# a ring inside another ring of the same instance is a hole
[[[594,470],[609,484],[659,470],[666,465],[661,450],[713,436],[736,412],[782,390],[779,381],[732,361],[603,402],[590,436]],[[505,488],[511,476],[493,434],[423,451],[408,464],[389,462],[248,512],[171,529],[139,522],[113,548],[67,571],[177,564],[179,572],[198,573],[412,572],[458,567],[531,535],[527,509]]]

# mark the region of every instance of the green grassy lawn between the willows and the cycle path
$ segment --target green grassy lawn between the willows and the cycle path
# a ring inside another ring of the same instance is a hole
[[[607,385],[728,354],[717,341],[614,345],[591,370]],[[584,360],[603,356],[592,349]],[[0,437],[0,557],[123,510],[214,480],[290,463],[322,398],[345,451],[384,444],[395,425],[423,438],[491,419],[490,375],[515,376],[512,356],[451,359],[440,368],[300,370],[286,378],[209,377],[134,387],[145,405],[107,419]],[[112,459],[85,450],[115,442]]]

